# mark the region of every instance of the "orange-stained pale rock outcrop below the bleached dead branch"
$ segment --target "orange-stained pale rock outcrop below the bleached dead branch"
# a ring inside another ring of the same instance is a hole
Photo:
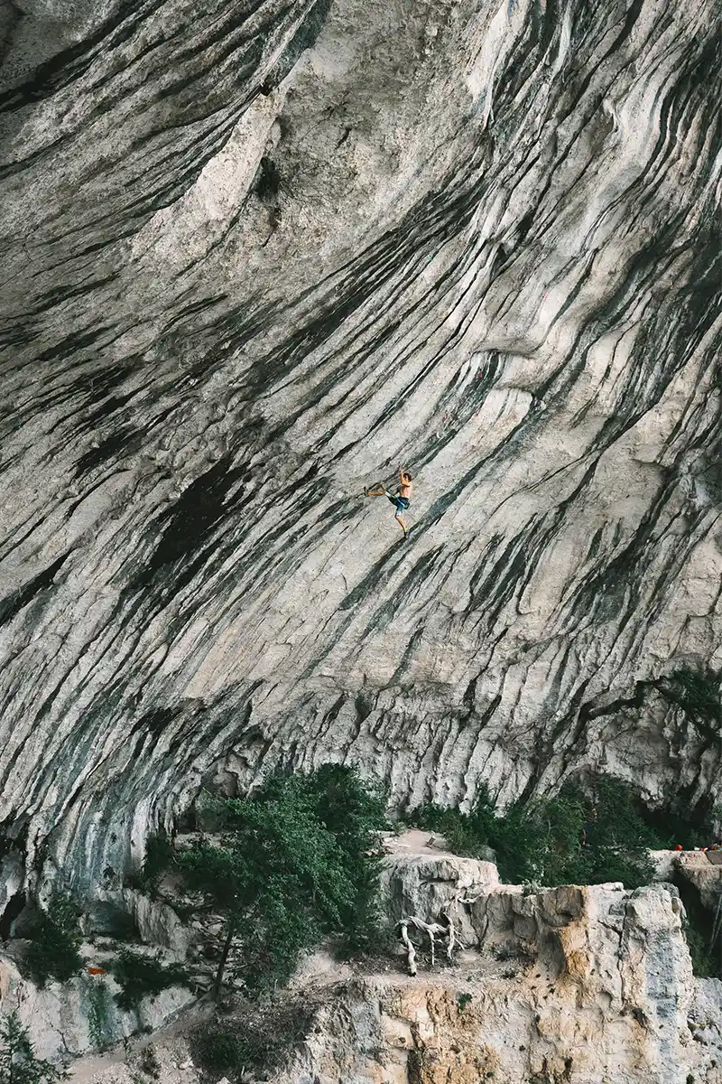
[[[477,944],[506,959],[347,984],[278,1082],[718,1082],[719,1035],[695,1042],[703,1024],[688,1022],[681,913],[662,886],[487,891],[472,908]],[[719,1024],[719,1007],[705,1014]]]

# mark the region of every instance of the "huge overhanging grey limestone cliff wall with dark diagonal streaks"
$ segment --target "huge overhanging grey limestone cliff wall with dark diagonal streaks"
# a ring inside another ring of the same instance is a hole
[[[719,0],[34,0],[4,33],[32,868],[97,883],[277,762],[718,795],[717,736],[644,683],[722,661]],[[360,495],[399,461],[406,544]]]

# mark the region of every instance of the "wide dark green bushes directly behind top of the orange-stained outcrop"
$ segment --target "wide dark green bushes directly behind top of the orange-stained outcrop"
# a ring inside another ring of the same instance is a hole
[[[667,843],[641,816],[631,789],[606,777],[586,791],[567,783],[554,798],[515,802],[501,814],[483,790],[469,814],[426,805],[410,821],[443,833],[460,854],[484,857],[491,848],[508,883],[619,880],[638,888],[654,876],[646,849]]]

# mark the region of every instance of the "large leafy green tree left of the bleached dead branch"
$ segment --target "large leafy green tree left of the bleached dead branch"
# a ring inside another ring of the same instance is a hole
[[[355,771],[273,775],[250,799],[218,803],[212,837],[169,855],[198,914],[222,915],[213,993],[226,965],[247,994],[284,983],[302,952],[337,934],[369,947],[381,925],[384,799]]]

